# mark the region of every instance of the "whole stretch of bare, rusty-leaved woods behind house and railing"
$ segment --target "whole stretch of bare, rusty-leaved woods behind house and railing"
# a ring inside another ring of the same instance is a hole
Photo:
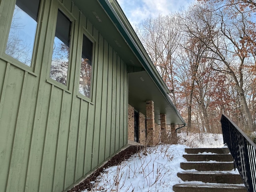
[[[201,0],[135,30],[188,130],[221,132],[220,116],[255,130],[256,3]]]

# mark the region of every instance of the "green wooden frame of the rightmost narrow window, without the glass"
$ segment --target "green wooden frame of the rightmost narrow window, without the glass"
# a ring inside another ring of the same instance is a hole
[[[76,79],[78,79],[77,83],[77,97],[89,102],[90,104],[94,104],[93,100],[93,90],[94,90],[94,69],[95,69],[95,48],[96,48],[96,39],[84,28],[82,27],[82,32],[80,32],[80,52],[79,52],[79,63],[78,63],[78,72]],[[83,49],[83,37],[86,36],[92,42],[92,72],[91,72],[91,84],[90,84],[90,97],[87,97],[79,92],[79,85],[80,85],[80,71],[81,71],[81,59],[82,59],[82,49]]]

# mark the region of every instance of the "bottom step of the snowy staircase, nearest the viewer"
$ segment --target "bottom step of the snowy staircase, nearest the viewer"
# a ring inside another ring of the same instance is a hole
[[[172,187],[174,192],[247,192],[241,185],[231,184],[176,184]]]

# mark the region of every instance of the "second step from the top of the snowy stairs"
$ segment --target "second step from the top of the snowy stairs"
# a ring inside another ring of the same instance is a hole
[[[184,154],[188,161],[233,161],[231,154]]]

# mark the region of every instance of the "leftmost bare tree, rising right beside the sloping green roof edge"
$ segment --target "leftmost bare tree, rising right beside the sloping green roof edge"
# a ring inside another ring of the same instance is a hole
[[[171,91],[174,105],[176,102],[176,83],[174,63],[178,56],[178,44],[182,37],[179,19],[176,15],[159,15],[148,18],[136,26],[136,32],[146,48],[154,65]]]

